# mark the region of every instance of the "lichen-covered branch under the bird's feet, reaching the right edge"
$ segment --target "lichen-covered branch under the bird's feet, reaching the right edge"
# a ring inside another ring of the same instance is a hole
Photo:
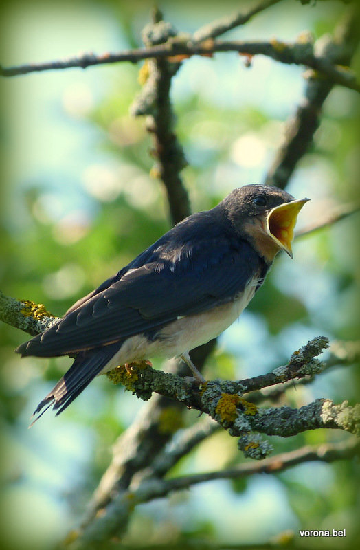
[[[118,367],[118,369],[122,368]],[[155,371],[148,366],[141,369],[135,367],[130,376],[136,380],[127,382],[126,376],[128,375],[126,373],[114,374],[114,371],[111,373],[113,378],[119,377],[137,397],[149,399],[151,393],[155,391],[155,393],[180,401],[185,406],[206,412],[218,423],[221,423],[223,428],[229,429],[230,434],[234,436],[241,436],[243,432],[249,430],[267,435],[281,435],[282,437],[290,437],[317,428],[341,428],[350,432],[358,430],[358,410],[348,407],[346,402],[337,406],[326,399],[317,399],[299,410],[289,407],[257,410],[256,407],[249,407],[247,401],[240,397],[242,393],[238,388],[247,387],[247,384],[253,379],[239,382],[212,380],[207,382],[205,391],[199,391],[188,380],[163,371]],[[289,380],[293,374],[285,375],[284,373],[281,377],[286,377],[286,380]],[[257,379],[259,378],[257,377]],[[278,382],[279,379],[274,383]],[[259,383],[260,381],[256,380],[254,385],[258,386]],[[263,383],[270,385],[267,375],[264,375]],[[236,399],[232,399],[232,397]],[[338,407],[340,408],[338,409]],[[326,415],[325,411],[328,411],[329,415]],[[350,419],[348,424],[342,423],[343,413]]]

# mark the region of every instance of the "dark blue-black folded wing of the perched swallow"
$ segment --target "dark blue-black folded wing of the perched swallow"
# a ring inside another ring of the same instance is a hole
[[[49,357],[122,342],[137,333],[153,336],[179,316],[231,300],[261,271],[260,257],[247,241],[216,236],[156,245],[143,253],[143,265],[140,255],[103,283],[100,292],[80,300],[56,325],[16,351]]]

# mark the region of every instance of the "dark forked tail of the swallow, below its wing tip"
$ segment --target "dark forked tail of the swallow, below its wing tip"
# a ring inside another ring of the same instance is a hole
[[[56,412],[56,416],[60,415],[69,404],[90,384],[91,380],[98,375],[106,363],[113,357],[119,349],[119,344],[110,344],[98,349],[93,349],[87,352],[81,352],[76,357],[76,360],[71,365],[69,371],[60,378],[58,383],[52,388],[47,396],[41,401],[33,417],[36,418],[30,424],[29,428],[47,411],[52,405],[54,410],[60,407]],[[43,410],[43,408],[45,410]]]

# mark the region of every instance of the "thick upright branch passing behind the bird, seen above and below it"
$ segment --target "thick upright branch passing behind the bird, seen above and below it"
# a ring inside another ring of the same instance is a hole
[[[175,34],[176,30],[163,21],[161,12],[155,9],[153,23],[146,25],[142,36],[144,43],[152,47]],[[164,184],[173,223],[190,214],[188,193],[179,176],[186,164],[185,156],[175,135],[175,116],[170,104],[170,84],[177,69],[178,63],[168,63],[166,59],[147,61],[140,71],[142,91],[131,107],[133,115],[146,115],[146,129],[153,139],[153,156],[157,159],[157,168],[152,173]],[[198,351],[200,364],[203,364],[211,349],[212,343]],[[184,374],[183,364],[168,362],[168,365],[173,373]],[[91,523],[99,509],[126,489],[137,472],[151,472],[153,463],[172,438],[173,431],[181,428],[183,410],[181,404],[158,395],[139,412],[132,426],[113,445],[111,464],[95,489],[83,525]],[[170,428],[169,423],[165,426],[169,417],[172,418]]]

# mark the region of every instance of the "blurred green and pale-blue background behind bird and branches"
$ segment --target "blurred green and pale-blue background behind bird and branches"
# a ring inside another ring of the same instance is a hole
[[[249,2],[159,2],[165,19],[185,32],[232,13],[239,4]],[[150,8],[146,1],[5,3],[1,64],[135,47]],[[317,38],[333,31],[342,12],[341,2],[282,2],[228,36],[295,41],[310,30]],[[355,66],[359,61],[355,56]],[[138,72],[139,65],[121,63],[1,81],[0,278],[8,296],[43,303],[60,316],[170,227],[161,186],[150,177],[153,159],[144,120],[129,115],[140,90]],[[302,100],[302,72],[262,56],[246,68],[236,54],[183,63],[173,79],[172,102],[189,162],[182,175],[194,211],[212,208],[235,187],[264,180],[284,122]],[[356,93],[335,87],[313,148],[287,188],[297,198],[311,198],[299,228],[355,200],[358,114]],[[357,338],[355,218],[296,241],[294,261],[278,257],[240,321],[219,338],[206,377],[265,373],[320,334],[332,341]],[[48,413],[27,430],[38,401],[71,360],[20,360],[13,350],[27,335],[3,323],[0,338],[0,531],[9,548],[49,549],[82,516],[111,459],[111,444],[143,403],[100,377],[63,415],[55,419]],[[352,403],[356,393],[352,366],[328,371],[287,397],[292,406],[302,406],[317,397]],[[194,421],[196,412],[188,411],[185,422]],[[317,430],[271,442],[282,452],[346,437]],[[241,460],[236,441],[218,433],[172,473],[214,470]],[[311,463],[241,483],[205,483],[168,501],[139,506],[126,541],[155,544],[201,536],[229,544],[261,543],[301,528],[347,528],[355,537],[356,467]],[[306,547],[313,541],[299,542]],[[316,545],[340,547],[339,539],[317,539]]]

